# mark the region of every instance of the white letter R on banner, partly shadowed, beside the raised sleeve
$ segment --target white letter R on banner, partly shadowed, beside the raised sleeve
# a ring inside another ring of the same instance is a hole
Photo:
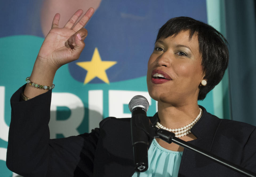
[[[66,120],[57,120],[57,107],[65,106],[71,111],[70,117]],[[63,134],[65,137],[79,135],[77,127],[83,121],[85,114],[82,100],[73,93],[52,93],[51,98],[51,119],[49,122],[50,138],[56,138],[56,134]]]

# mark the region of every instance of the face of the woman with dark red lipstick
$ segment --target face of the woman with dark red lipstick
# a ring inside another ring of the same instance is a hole
[[[172,105],[197,102],[203,77],[196,34],[189,40],[189,31],[183,31],[156,41],[147,70],[147,87],[154,100]]]

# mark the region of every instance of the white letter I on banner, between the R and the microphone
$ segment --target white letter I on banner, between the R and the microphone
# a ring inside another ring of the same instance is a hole
[[[89,90],[88,92],[89,105],[89,132],[91,129],[99,127],[99,122],[103,115],[103,90]]]

